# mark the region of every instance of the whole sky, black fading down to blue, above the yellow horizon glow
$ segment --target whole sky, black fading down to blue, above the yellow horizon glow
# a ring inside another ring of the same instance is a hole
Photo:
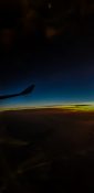
[[[35,84],[1,106],[94,100],[92,1],[4,0],[0,9],[0,95]]]

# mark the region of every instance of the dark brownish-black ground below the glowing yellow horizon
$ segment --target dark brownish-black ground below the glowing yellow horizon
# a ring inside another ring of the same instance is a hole
[[[94,192],[94,112],[0,112],[1,192]]]

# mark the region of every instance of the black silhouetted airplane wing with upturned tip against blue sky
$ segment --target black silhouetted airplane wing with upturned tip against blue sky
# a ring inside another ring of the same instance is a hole
[[[30,94],[30,93],[33,92],[34,87],[35,87],[35,85],[32,84],[31,86],[29,86],[28,88],[25,88],[25,89],[22,90],[21,93],[10,94],[10,95],[2,95],[2,96],[0,96],[0,100],[1,100],[1,99],[6,99],[6,98],[12,98],[12,97],[17,97],[17,96],[24,96],[24,95],[28,95],[28,94]]]

